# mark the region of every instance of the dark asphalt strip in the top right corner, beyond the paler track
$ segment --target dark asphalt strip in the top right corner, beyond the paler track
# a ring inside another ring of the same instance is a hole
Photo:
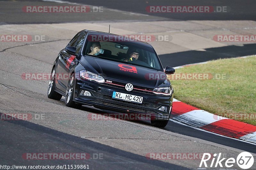
[[[83,0],[71,0],[70,2],[83,3]],[[86,2],[87,3],[87,2]],[[147,1],[136,1],[131,0],[127,1],[125,5],[120,3],[120,1],[111,0],[111,1],[102,1],[95,0],[90,1],[87,4],[95,5],[95,6],[106,6],[108,8],[114,8],[122,11],[130,11],[130,12],[139,12],[142,14],[148,14],[155,17],[163,17],[168,18],[170,20],[255,20],[255,8],[254,1],[204,1],[204,0],[196,0],[196,1],[179,1],[179,0],[147,0]],[[227,6],[227,13],[185,13],[180,15],[179,13],[150,13],[145,10],[147,6]]]

